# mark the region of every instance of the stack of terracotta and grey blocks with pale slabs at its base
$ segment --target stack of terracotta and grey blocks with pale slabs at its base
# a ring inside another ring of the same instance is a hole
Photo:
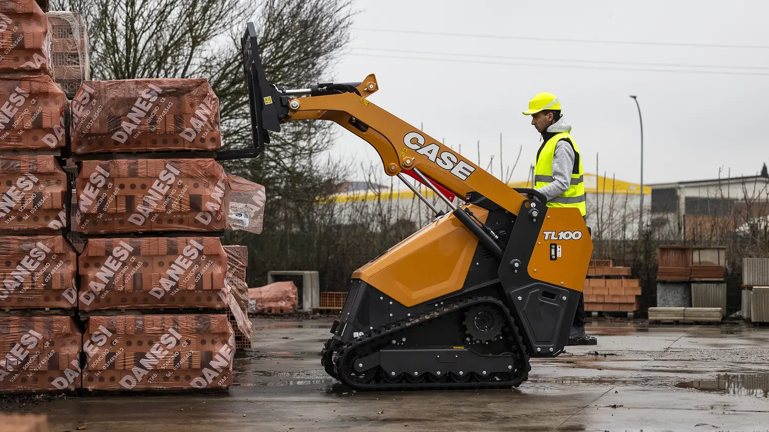
[[[726,314],[722,247],[665,245],[657,251],[657,307],[651,321],[721,321]]]

